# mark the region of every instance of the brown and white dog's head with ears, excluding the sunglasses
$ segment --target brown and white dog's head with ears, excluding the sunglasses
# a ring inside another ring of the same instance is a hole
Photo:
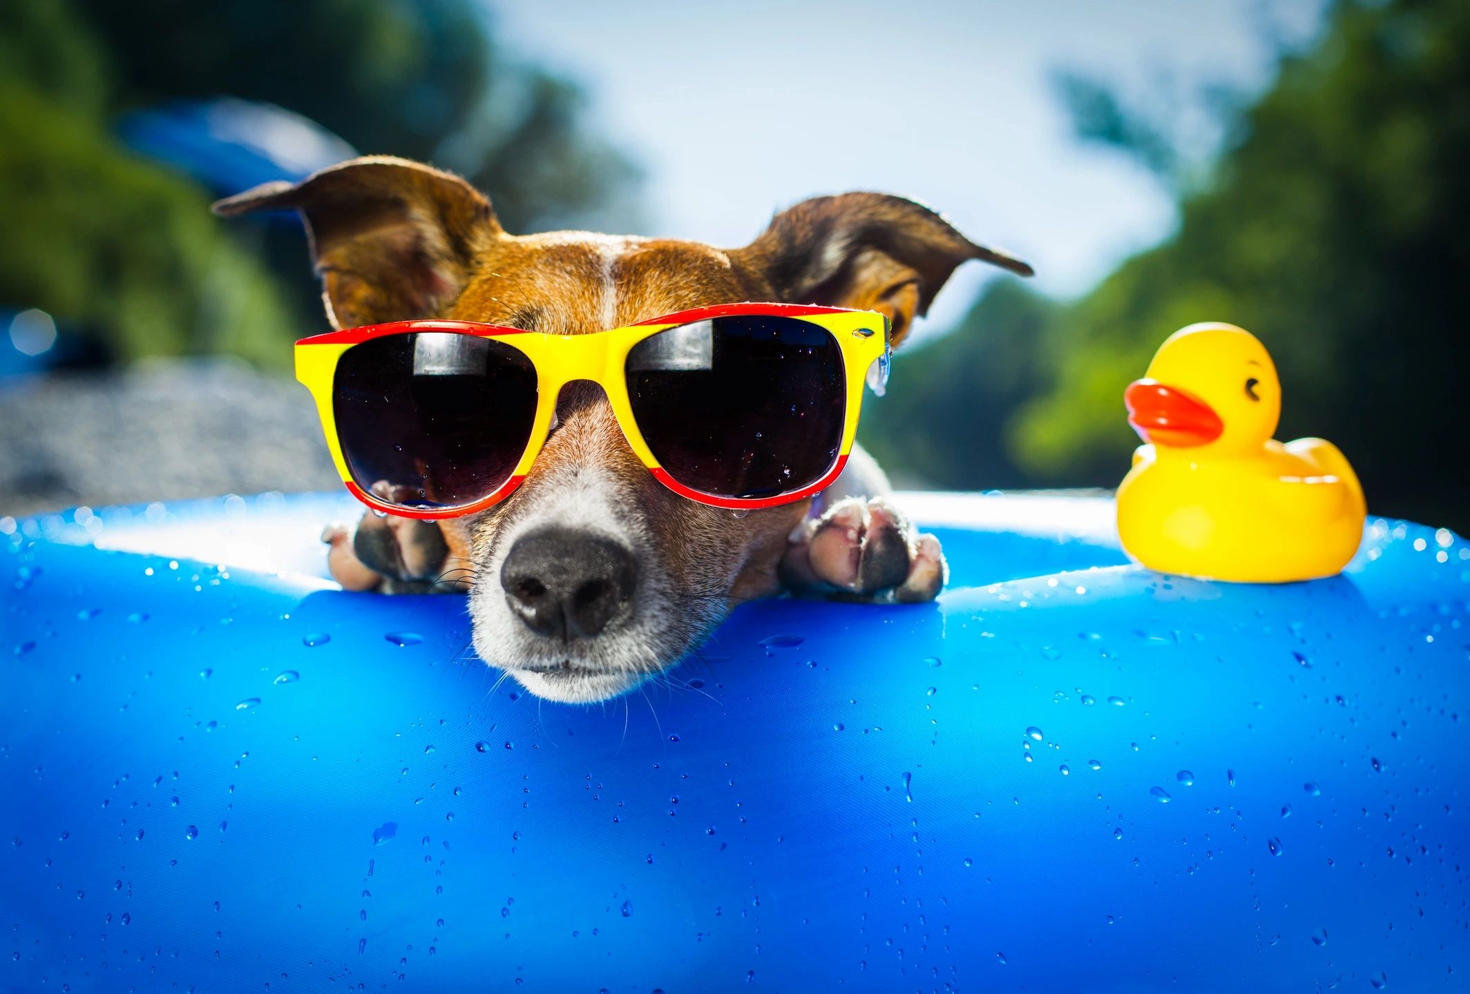
[[[220,213],[301,213],[335,327],[451,317],[587,335],[709,304],[873,310],[901,342],[960,263],[1029,272],[928,207],[817,197],[744,248],[588,232],[510,235],[457,176],[360,159]],[[531,692],[598,700],[675,664],[731,605],[778,589],[807,502],[732,512],[662,486],[601,391],[567,388],[557,427],[506,501],[445,529],[473,564],[475,649]]]

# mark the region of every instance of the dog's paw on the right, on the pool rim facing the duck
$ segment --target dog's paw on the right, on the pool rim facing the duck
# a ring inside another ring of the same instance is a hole
[[[933,601],[948,576],[939,540],[883,498],[848,498],[803,521],[781,561],[789,590],[861,601]]]

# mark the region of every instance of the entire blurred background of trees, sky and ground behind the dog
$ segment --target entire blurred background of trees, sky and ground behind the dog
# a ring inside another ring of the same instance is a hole
[[[1460,0],[9,0],[0,515],[337,486],[300,225],[207,204],[390,153],[514,232],[739,245],[869,188],[1029,258],[960,270],[864,408],[900,483],[1111,486],[1123,386],[1230,320],[1282,436],[1466,530],[1467,47]]]

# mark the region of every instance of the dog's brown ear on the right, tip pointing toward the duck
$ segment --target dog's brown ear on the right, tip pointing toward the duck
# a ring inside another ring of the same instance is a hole
[[[923,204],[889,194],[803,201],[731,255],[764,277],[779,302],[886,314],[894,342],[967,258],[1032,275],[1022,260],[976,245]]]

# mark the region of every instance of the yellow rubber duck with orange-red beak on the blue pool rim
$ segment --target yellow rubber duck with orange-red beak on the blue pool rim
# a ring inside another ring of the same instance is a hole
[[[1144,445],[1117,489],[1117,533],[1145,567],[1288,583],[1339,573],[1357,552],[1363,486],[1332,442],[1272,438],[1280,380],[1245,329],[1179,329],[1123,402]]]

